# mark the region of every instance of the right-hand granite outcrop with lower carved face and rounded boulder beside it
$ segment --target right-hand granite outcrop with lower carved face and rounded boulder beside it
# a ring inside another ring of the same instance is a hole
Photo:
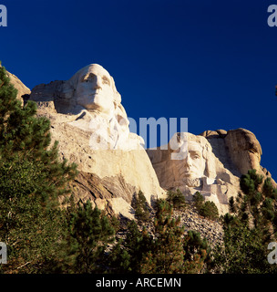
[[[148,154],[161,187],[180,189],[189,201],[200,192],[206,201],[217,205],[220,214],[229,212],[229,199],[239,193],[241,174],[256,169],[271,177],[260,165],[259,141],[244,129],[177,133],[168,147],[149,149]]]

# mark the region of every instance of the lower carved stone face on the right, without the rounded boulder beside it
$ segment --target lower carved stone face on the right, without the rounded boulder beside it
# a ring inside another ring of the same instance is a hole
[[[163,148],[148,150],[162,188],[180,189],[188,201],[200,192],[221,214],[229,211],[229,199],[240,187],[239,177],[224,167],[205,137],[177,133]]]

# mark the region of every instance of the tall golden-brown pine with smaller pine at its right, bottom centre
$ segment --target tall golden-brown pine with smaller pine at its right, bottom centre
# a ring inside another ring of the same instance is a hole
[[[193,231],[185,235],[180,217],[173,218],[173,207],[167,201],[159,201],[154,225],[154,240],[142,259],[141,272],[199,273],[210,255],[207,241]]]

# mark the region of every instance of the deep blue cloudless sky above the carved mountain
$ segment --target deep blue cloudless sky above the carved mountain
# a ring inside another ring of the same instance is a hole
[[[0,0],[0,59],[27,87],[98,63],[128,116],[189,118],[189,131],[245,128],[277,180],[277,27],[252,0]]]

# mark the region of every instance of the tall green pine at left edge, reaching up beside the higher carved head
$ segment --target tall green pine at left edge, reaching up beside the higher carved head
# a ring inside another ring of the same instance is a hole
[[[36,180],[36,190],[33,192],[45,202],[54,203],[58,196],[69,192],[67,183],[76,176],[77,165],[74,163],[68,165],[67,160],[63,162],[58,160],[57,141],[52,148],[49,148],[51,142],[49,130],[50,121],[44,117],[36,117],[35,102],[28,101],[25,107],[21,106],[16,99],[16,90],[10,83],[5,68],[1,67],[0,158],[2,167],[6,170],[6,176],[9,176],[9,172],[18,172],[16,167],[19,164],[32,164],[32,168],[37,169],[37,175],[43,178],[40,183]],[[28,172],[27,167],[26,172]],[[1,192],[4,191],[0,190]],[[7,198],[13,193],[5,189],[4,195]],[[49,198],[51,200],[48,200]]]

